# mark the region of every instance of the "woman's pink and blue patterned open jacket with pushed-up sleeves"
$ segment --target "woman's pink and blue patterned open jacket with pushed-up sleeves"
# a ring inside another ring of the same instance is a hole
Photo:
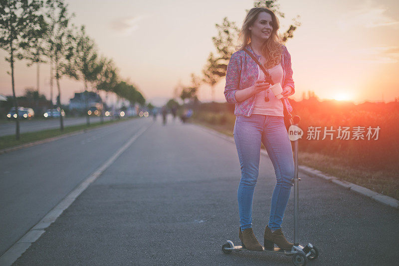
[[[255,54],[249,44],[246,45],[245,48],[258,60],[260,59],[260,55]],[[281,54],[281,66],[284,71],[282,87],[292,87],[292,93],[290,94],[292,95],[295,92],[295,87],[294,80],[292,79],[291,55],[285,45],[283,45],[283,52]],[[235,103],[235,115],[251,116],[255,104],[255,95],[243,100],[242,102],[237,102],[235,99],[235,93],[237,90],[253,86],[257,77],[258,65],[244,50],[238,50],[231,55],[227,66],[224,97],[228,103]],[[288,112],[292,112],[291,104],[287,98],[283,99],[283,103]]]

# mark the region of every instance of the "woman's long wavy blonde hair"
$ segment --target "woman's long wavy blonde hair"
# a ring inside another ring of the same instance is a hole
[[[248,28],[253,25],[260,12],[269,13],[273,22],[273,30],[270,37],[261,46],[261,53],[266,58],[264,66],[265,68],[271,68],[280,63],[281,54],[283,52],[283,43],[278,35],[280,23],[272,10],[265,7],[253,7],[248,11],[238,34],[239,46],[237,47],[237,50],[244,48],[248,43],[250,43],[251,31]]]

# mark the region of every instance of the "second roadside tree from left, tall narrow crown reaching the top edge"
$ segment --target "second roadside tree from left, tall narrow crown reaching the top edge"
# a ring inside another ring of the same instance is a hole
[[[43,52],[50,58],[51,79],[54,77],[57,82],[58,96],[57,106],[61,109],[61,88],[60,78],[67,73],[69,60],[73,55],[74,37],[72,29],[69,27],[70,18],[67,7],[63,0],[47,0],[45,3],[47,12],[45,19],[47,23],[45,33],[45,43]],[[55,73],[53,76],[52,65]],[[64,130],[63,117],[60,115],[60,130]]]

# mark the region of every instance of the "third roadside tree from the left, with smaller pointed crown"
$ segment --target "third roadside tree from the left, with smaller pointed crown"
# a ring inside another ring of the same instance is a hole
[[[88,83],[95,81],[98,74],[98,54],[94,41],[86,34],[85,26],[75,35],[75,45],[71,49],[71,57],[65,65],[65,73],[84,83],[85,112],[87,125],[90,125],[88,114]]]

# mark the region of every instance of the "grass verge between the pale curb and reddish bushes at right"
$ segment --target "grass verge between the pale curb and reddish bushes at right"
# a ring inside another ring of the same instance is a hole
[[[214,125],[204,121],[193,120],[193,123],[216,130],[227,136],[233,136],[229,126]],[[262,144],[262,148],[264,148]],[[299,164],[320,170],[340,180],[368,188],[377,193],[399,200],[398,173],[390,171],[369,171],[356,169],[347,165],[345,158],[331,157],[319,153],[299,151]]]

